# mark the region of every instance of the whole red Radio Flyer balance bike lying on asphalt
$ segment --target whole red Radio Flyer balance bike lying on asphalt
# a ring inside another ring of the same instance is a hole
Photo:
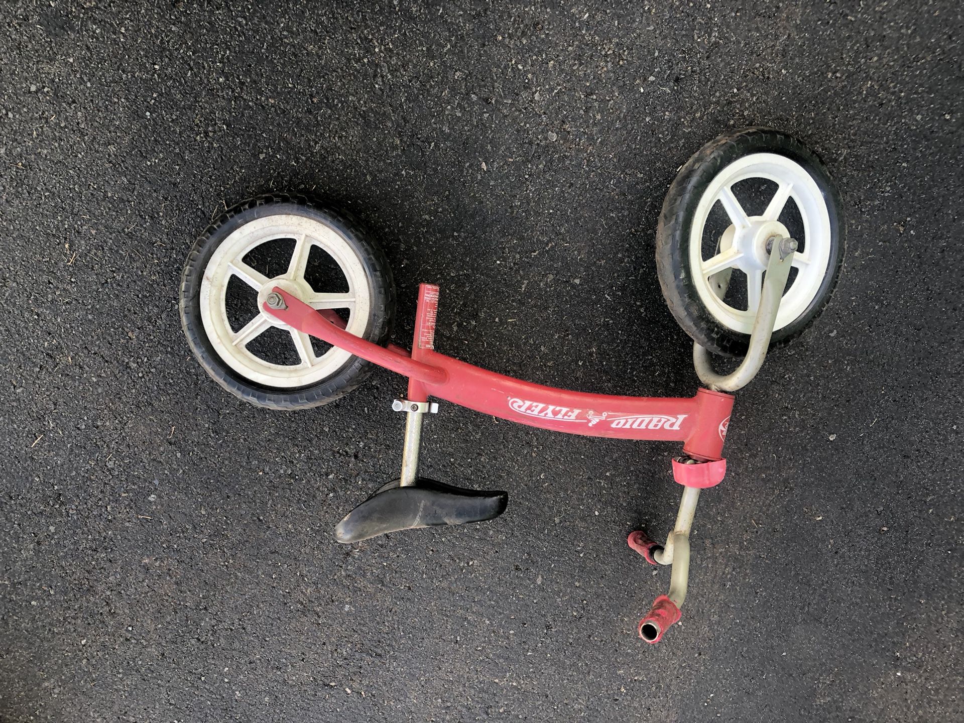
[[[672,565],[667,595],[639,622],[660,640],[680,620],[689,532],[700,491],[718,485],[734,396],[767,351],[789,343],[830,299],[844,255],[840,198],[817,156],[762,128],[728,133],[683,165],[662,206],[656,268],[663,296],[692,337],[705,388],[692,397],[634,397],[544,387],[436,351],[439,287],[418,289],[412,351],[388,342],[395,290],[388,261],[354,218],[301,196],[267,195],[230,208],[188,256],[180,314],[195,356],[218,384],[255,405],[293,410],[357,387],[371,364],[408,377],[392,409],[406,415],[401,473],[335,527],[355,543],[375,535],[492,520],[508,494],[418,474],[427,413],[439,399],[484,415],[587,437],[683,442],[672,461],[683,485],[664,545],[640,530],[629,547]],[[710,354],[743,357],[736,371]]]

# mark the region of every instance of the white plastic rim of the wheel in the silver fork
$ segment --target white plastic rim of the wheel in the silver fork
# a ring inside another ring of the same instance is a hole
[[[765,178],[778,189],[762,216],[747,216],[734,196],[731,187],[747,178]],[[817,297],[830,262],[830,213],[817,181],[795,161],[776,153],[752,153],[737,159],[710,181],[697,204],[689,237],[689,268],[703,302],[713,318],[735,332],[749,334],[760,303],[763,271],[768,255],[765,240],[772,235],[786,235],[787,229],[777,219],[788,199],[792,199],[803,221],[803,252],[794,254],[792,266],[797,269],[793,281],[777,313],[774,331],[783,329],[798,319]],[[724,232],[730,236],[717,253],[703,258],[703,233],[710,209],[720,201],[730,217],[731,227]],[[712,277],[727,269],[738,269],[746,274],[747,307],[734,308],[720,298]]]

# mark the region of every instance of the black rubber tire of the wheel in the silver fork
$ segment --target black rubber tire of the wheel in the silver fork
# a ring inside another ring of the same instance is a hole
[[[689,268],[689,233],[693,216],[710,181],[750,153],[776,153],[800,164],[817,182],[830,215],[830,259],[813,302],[787,326],[773,333],[770,348],[783,346],[803,333],[826,307],[837,286],[844,261],[844,217],[840,194],[817,156],[786,133],[743,128],[710,141],[693,155],[670,185],[656,229],[656,271],[663,297],[683,331],[714,354],[746,354],[750,335],[718,322],[700,301]]]

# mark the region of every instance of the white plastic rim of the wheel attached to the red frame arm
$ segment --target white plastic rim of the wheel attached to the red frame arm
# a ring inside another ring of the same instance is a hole
[[[268,279],[244,263],[244,257],[254,247],[285,238],[295,239],[295,248],[288,269],[281,276]],[[313,246],[320,247],[335,259],[348,281],[347,293],[316,292],[305,281],[308,254]],[[258,294],[251,321],[237,332],[231,329],[228,322],[226,306],[231,276],[238,277]],[[236,229],[221,242],[204,268],[201,322],[215,353],[238,374],[265,387],[306,387],[333,375],[351,358],[351,354],[332,347],[320,357],[315,357],[308,335],[266,314],[261,304],[276,285],[295,294],[312,308],[349,309],[347,331],[359,336],[364,334],[371,308],[371,294],[358,254],[335,228],[305,216],[279,214],[255,219]],[[266,362],[248,351],[248,344],[272,326],[291,335],[300,363],[286,365]]]

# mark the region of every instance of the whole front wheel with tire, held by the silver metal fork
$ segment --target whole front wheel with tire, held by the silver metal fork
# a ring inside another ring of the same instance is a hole
[[[844,221],[830,174],[799,141],[763,128],[720,136],[680,169],[659,216],[656,268],[676,320],[711,352],[746,353],[774,236],[798,248],[771,348],[813,323],[837,284]]]

